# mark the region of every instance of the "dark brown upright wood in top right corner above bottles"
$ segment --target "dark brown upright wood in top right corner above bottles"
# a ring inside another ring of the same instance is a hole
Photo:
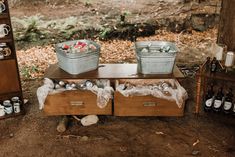
[[[235,51],[235,0],[223,0],[219,22],[218,43]]]

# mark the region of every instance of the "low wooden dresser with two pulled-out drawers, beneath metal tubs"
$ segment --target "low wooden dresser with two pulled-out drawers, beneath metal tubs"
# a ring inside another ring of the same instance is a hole
[[[120,79],[182,79],[183,74],[177,66],[172,74],[143,75],[137,72],[137,64],[101,64],[97,70],[78,75],[70,75],[58,67],[51,65],[45,73],[45,78],[70,80],[70,79],[108,79],[111,84]],[[97,97],[90,91],[66,91],[64,93],[48,95],[45,101],[44,112],[46,115],[114,115],[116,116],[182,116],[184,103],[181,108],[174,101],[169,101],[152,96],[124,97],[114,93],[114,103],[108,103],[105,108],[97,106]]]

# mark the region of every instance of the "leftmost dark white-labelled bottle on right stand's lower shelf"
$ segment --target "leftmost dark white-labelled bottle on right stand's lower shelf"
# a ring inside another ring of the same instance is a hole
[[[205,101],[204,101],[204,111],[208,112],[212,109],[212,104],[214,101],[214,90],[213,90],[214,85],[211,84],[210,88],[208,89],[206,96],[205,96]]]

